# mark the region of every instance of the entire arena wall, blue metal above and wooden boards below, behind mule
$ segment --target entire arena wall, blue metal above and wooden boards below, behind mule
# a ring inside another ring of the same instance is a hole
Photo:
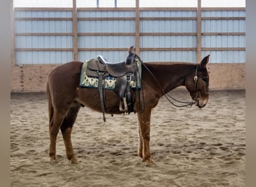
[[[51,70],[103,55],[121,61],[129,46],[144,62],[210,55],[210,89],[246,88],[245,7],[16,7],[12,92],[45,92]]]

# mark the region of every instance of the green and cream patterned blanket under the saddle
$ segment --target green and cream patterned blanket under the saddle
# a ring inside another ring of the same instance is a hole
[[[98,88],[98,82],[99,82],[98,78],[86,75],[87,64],[88,64],[88,61],[85,61],[84,64],[82,64],[79,85],[82,88]],[[137,66],[138,66],[137,88],[141,88],[141,61],[137,61]],[[107,76],[104,79],[104,88],[108,89],[108,90],[115,89],[115,82],[116,82],[115,77]],[[129,86],[130,86],[130,88],[136,88],[136,82],[130,81]]]

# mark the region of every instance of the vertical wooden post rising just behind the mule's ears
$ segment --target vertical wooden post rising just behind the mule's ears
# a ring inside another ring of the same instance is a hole
[[[202,31],[202,24],[201,24],[201,0],[198,0],[198,11],[197,11],[197,60],[198,63],[201,61],[201,31]]]

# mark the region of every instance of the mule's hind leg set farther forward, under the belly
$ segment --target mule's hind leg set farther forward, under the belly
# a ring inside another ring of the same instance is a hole
[[[76,156],[73,151],[72,141],[71,141],[71,132],[72,132],[73,124],[76,121],[79,108],[80,106],[70,108],[61,125],[61,133],[62,133],[64,144],[66,147],[67,159],[69,159],[71,163],[77,163]]]

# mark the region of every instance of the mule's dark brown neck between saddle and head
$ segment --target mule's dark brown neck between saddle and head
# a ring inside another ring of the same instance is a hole
[[[174,88],[184,86],[186,79],[190,76],[195,76],[196,64],[156,64],[150,69],[152,69],[152,73],[161,85],[162,90],[168,93]],[[162,96],[164,93],[160,89],[159,91],[159,95]]]

